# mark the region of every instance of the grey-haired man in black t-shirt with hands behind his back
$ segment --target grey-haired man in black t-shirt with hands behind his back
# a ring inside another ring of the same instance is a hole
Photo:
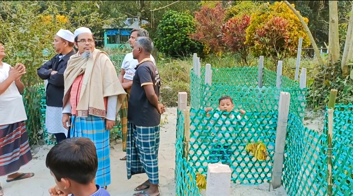
[[[150,58],[153,42],[137,37],[132,50],[137,59],[127,108],[127,179],[146,173],[148,180],[139,185],[135,196],[158,196],[158,148],[161,114],[165,108],[159,102],[161,78]]]

